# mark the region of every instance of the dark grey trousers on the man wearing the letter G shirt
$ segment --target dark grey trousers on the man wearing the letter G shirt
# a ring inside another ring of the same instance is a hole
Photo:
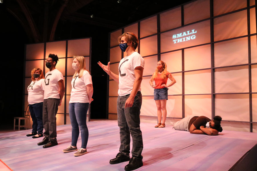
[[[43,125],[45,132],[43,135],[49,139],[49,141],[56,141],[56,114],[60,99],[48,98],[43,102]]]

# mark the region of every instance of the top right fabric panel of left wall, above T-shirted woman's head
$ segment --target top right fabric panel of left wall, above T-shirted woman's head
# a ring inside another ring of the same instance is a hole
[[[67,57],[89,56],[89,55],[90,55],[90,38],[68,40]]]

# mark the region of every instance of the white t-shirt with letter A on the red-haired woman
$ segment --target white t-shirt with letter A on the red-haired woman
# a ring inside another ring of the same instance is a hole
[[[30,105],[44,101],[45,79],[35,80],[28,86],[28,102]]]

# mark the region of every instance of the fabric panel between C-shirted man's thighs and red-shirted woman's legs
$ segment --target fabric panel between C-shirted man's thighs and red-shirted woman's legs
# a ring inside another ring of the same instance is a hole
[[[140,115],[157,117],[157,107],[154,101],[154,96],[143,97],[142,106],[140,109]]]

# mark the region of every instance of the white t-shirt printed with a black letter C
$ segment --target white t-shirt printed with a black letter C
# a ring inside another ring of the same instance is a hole
[[[138,66],[144,68],[144,59],[134,52],[130,56],[125,56],[119,63],[119,96],[130,94],[136,79],[134,69]],[[141,90],[141,87],[138,91]]]

